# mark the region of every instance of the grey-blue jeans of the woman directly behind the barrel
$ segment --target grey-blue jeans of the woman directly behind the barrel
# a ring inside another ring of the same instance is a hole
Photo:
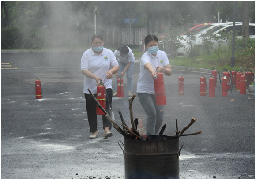
[[[164,117],[164,105],[156,105],[155,95],[148,93],[137,93],[139,102],[147,115],[147,135],[157,135],[162,126]]]

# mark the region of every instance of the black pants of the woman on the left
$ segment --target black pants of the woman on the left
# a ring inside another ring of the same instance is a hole
[[[112,109],[112,89],[106,89],[106,91],[107,91],[106,112],[108,112],[109,115],[111,115],[111,111],[109,109],[109,104],[110,104],[110,108]],[[93,94],[93,95],[94,95],[94,97],[97,96],[97,94]],[[97,103],[95,102],[93,97],[91,97],[90,94],[84,94],[84,97],[85,97],[85,101],[86,101],[86,112],[87,112],[87,116],[88,116],[90,132],[93,133],[98,130],[97,129],[97,113],[96,113]],[[109,100],[109,103],[108,103],[108,100]],[[111,129],[112,124],[105,117],[105,115],[102,115],[102,123],[103,123],[103,129],[105,129],[105,127],[109,127],[109,129]]]

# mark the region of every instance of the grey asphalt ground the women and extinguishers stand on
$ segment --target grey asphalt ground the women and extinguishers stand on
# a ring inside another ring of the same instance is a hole
[[[124,157],[113,137],[89,139],[90,130],[83,95],[80,60],[83,53],[1,53],[1,179],[124,179]],[[178,95],[178,77],[184,75],[185,95]],[[209,81],[209,74],[204,73]],[[42,99],[35,98],[35,80],[42,81]],[[184,136],[180,155],[180,179],[255,179],[255,96],[228,92],[200,96],[201,72],[173,70],[165,76],[164,135],[197,121]],[[134,89],[139,78],[139,60],[134,70]],[[114,81],[114,78],[112,79]],[[113,98],[112,109],[129,122],[127,80],[124,98]],[[136,99],[133,116],[145,132],[145,113]]]

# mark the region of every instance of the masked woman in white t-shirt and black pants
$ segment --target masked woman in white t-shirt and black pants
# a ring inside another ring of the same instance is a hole
[[[86,112],[88,116],[88,122],[90,126],[90,138],[98,137],[97,129],[97,114],[96,114],[96,102],[91,97],[88,88],[96,97],[97,86],[100,85],[100,80],[106,86],[106,94],[109,103],[106,103],[106,111],[111,114],[109,104],[112,103],[112,81],[113,74],[119,70],[118,62],[114,53],[103,47],[104,41],[102,35],[94,34],[91,39],[92,47],[87,49],[81,59],[81,72],[84,75],[83,80],[83,93],[86,100]],[[95,86],[96,84],[96,86]],[[107,120],[105,115],[102,115],[103,122],[103,138],[108,139],[112,136],[112,132],[109,130],[112,124]]]

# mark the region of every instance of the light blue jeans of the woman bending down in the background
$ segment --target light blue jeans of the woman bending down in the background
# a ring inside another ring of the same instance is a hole
[[[123,62],[118,62],[119,63],[119,71],[118,75],[120,75],[121,72],[124,71],[124,67],[126,66],[126,63]],[[132,91],[133,89],[133,69],[134,69],[134,61],[130,64],[130,67],[126,71],[126,78],[127,78],[127,90]],[[115,83],[115,90],[117,90],[117,78],[116,78],[116,83]]]

